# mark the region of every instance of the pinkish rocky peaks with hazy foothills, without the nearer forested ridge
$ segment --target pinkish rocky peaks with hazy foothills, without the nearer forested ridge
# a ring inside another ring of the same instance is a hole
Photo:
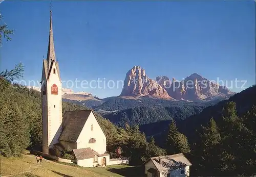
[[[40,91],[39,87],[28,88]],[[174,78],[170,81],[166,76],[152,80],[140,66],[134,66],[126,73],[119,96],[100,99],[92,93],[62,88],[62,98],[65,102],[84,105],[102,114],[138,106],[167,107],[177,101],[217,103],[233,94],[235,93],[225,86],[210,82],[197,73],[189,75],[184,81]]]

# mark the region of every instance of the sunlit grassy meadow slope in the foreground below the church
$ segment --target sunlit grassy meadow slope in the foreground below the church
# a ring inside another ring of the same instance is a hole
[[[108,168],[87,168],[76,164],[57,163],[43,159],[41,164],[36,164],[35,156],[22,155],[20,158],[6,158],[1,156],[1,176],[137,176],[143,170],[129,165],[111,165]],[[13,165],[15,164],[15,165]],[[132,171],[132,172],[131,172]],[[142,175],[142,174],[141,174]]]

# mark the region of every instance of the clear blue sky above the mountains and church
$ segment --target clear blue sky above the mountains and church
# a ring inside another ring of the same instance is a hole
[[[26,84],[41,79],[49,6],[47,1],[0,4],[3,21],[15,29],[12,41],[3,43],[1,70],[23,62]],[[236,78],[247,81],[244,87],[255,84],[254,1],[53,1],[52,6],[63,81],[105,79],[117,85],[139,65],[152,79],[166,75],[182,80],[197,72],[229,85]],[[121,85],[78,86],[72,89],[99,97],[116,96],[122,90]]]

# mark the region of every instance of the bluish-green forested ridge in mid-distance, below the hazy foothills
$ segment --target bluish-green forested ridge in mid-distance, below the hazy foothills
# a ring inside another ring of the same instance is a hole
[[[214,105],[214,104],[212,104]],[[111,114],[103,115],[114,124],[124,127],[125,123],[143,125],[162,120],[186,119],[191,115],[201,113],[209,105],[197,103],[173,102],[168,107],[135,107]]]

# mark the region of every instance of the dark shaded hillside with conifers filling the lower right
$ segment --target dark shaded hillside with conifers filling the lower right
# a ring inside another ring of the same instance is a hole
[[[200,176],[250,176],[256,174],[256,86],[252,86],[200,114],[177,120],[179,132],[190,144],[187,157],[191,174]],[[158,132],[156,143],[163,148],[167,121],[145,124],[141,130]],[[158,130],[158,131],[156,131]]]

